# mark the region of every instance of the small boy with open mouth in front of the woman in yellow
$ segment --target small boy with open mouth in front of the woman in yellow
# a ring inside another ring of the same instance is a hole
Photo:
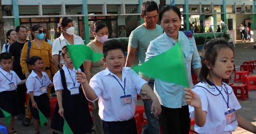
[[[31,74],[26,81],[27,93],[30,94],[29,107],[34,117],[34,126],[36,134],[39,132],[39,113],[37,108],[47,118],[47,126],[51,134],[57,134],[49,126],[51,124],[50,119],[50,102],[47,96],[47,88],[51,88],[53,83],[49,79],[48,75],[43,72],[44,63],[41,57],[33,56],[29,59],[29,65],[33,68]]]

